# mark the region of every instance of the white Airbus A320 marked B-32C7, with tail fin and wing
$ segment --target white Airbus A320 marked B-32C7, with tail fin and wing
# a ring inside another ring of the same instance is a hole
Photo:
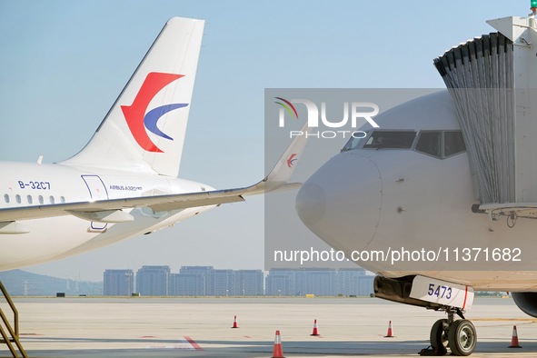
[[[0,271],[58,260],[148,234],[286,182],[305,142],[263,181],[214,190],[177,177],[204,21],[164,26],[94,136],[57,164],[0,162]]]

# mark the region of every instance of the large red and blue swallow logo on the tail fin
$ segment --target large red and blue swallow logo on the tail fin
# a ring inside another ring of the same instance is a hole
[[[127,122],[136,143],[147,152],[163,153],[163,151],[153,143],[147,134],[147,131],[162,138],[171,141],[174,140],[174,138],[162,132],[156,124],[164,114],[177,108],[186,107],[188,104],[164,104],[149,111],[147,111],[147,107],[160,90],[181,77],[184,77],[184,75],[163,74],[159,72],[149,73],[145,77],[144,84],[140,87],[138,94],[134,97],[133,104],[121,106],[124,119]]]

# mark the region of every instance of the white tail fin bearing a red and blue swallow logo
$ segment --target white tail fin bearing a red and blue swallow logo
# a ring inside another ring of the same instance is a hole
[[[170,19],[85,148],[62,162],[177,176],[204,21]]]

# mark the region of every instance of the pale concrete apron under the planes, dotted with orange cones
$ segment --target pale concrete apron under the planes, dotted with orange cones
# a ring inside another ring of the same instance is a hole
[[[15,298],[30,357],[418,356],[445,313],[376,298]],[[5,308],[5,305],[2,304]],[[237,316],[239,328],[231,328]],[[8,314],[8,316],[11,316]],[[476,298],[472,357],[537,356],[537,319],[511,299]],[[319,336],[313,333],[317,320]],[[394,337],[385,338],[388,323]],[[517,326],[522,348],[511,344]],[[5,344],[0,357],[10,357]]]

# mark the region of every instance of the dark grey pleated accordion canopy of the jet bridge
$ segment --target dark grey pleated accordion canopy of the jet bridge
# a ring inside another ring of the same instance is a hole
[[[516,203],[512,41],[482,35],[434,65],[452,95],[481,204]]]

